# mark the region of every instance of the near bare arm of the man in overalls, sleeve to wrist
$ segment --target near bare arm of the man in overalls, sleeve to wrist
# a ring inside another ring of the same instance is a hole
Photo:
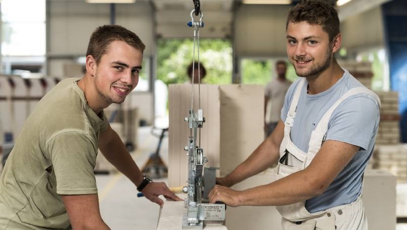
[[[242,191],[241,205],[287,205],[319,196],[358,151],[339,141],[326,141],[312,162],[298,171],[268,185]]]

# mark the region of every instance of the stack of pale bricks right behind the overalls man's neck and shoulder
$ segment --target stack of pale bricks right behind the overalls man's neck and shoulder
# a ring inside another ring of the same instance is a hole
[[[340,61],[339,65],[348,70],[360,83],[372,89],[372,63],[356,61]]]

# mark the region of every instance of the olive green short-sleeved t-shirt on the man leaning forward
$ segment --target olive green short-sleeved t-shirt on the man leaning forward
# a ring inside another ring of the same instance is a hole
[[[25,121],[0,180],[0,229],[70,229],[61,195],[98,192],[98,139],[108,122],[78,80],[58,83]]]

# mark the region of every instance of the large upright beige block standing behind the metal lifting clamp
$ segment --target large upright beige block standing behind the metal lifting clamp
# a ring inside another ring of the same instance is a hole
[[[206,167],[231,172],[263,141],[264,88],[261,85],[201,85],[201,108],[206,118],[200,133]],[[194,111],[198,109],[194,85]],[[168,185],[184,186],[188,179],[187,145],[190,129],[184,121],[191,108],[191,85],[169,86]],[[198,139],[197,139],[198,141]]]

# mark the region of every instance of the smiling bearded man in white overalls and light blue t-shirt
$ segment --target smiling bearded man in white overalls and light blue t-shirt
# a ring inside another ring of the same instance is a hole
[[[299,79],[289,88],[274,132],[225,177],[210,202],[274,205],[284,229],[368,229],[363,174],[379,125],[380,100],[342,69],[335,9],[304,1],[287,19],[287,54]],[[278,161],[267,185],[228,187]]]

